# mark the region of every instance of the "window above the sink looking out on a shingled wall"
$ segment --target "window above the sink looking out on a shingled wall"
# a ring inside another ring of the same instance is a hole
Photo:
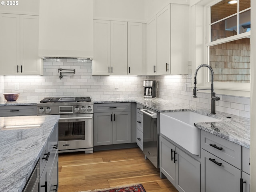
[[[230,2],[207,7],[207,62],[216,88],[250,91],[250,0]]]

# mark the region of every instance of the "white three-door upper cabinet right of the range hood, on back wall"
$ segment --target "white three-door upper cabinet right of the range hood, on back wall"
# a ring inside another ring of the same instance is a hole
[[[93,75],[145,75],[146,26],[94,20]]]

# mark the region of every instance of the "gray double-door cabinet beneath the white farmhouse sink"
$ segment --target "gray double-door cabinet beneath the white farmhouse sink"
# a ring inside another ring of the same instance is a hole
[[[200,162],[160,136],[160,175],[180,192],[200,192]]]

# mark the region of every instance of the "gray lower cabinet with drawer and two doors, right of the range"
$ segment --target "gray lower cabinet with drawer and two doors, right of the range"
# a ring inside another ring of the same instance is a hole
[[[96,104],[94,146],[131,142],[130,103],[118,104]]]

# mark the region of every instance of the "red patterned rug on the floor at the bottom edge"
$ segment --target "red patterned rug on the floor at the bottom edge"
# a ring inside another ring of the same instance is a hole
[[[146,192],[142,184],[126,186],[126,187],[115,187],[108,189],[89,190],[81,192]]]

